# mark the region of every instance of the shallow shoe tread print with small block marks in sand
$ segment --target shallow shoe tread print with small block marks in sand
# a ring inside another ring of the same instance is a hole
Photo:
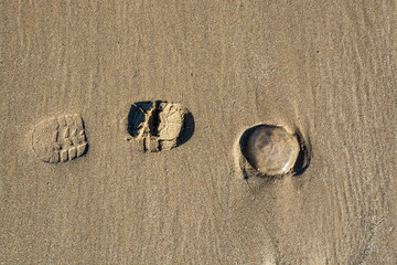
[[[44,162],[66,162],[83,156],[88,144],[79,115],[50,118],[37,124],[32,132],[32,149]]]

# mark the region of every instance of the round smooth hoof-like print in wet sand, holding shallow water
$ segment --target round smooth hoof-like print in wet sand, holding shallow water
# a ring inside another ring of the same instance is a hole
[[[310,161],[308,144],[302,135],[276,125],[257,125],[247,129],[235,152],[236,163],[245,178],[300,174]]]

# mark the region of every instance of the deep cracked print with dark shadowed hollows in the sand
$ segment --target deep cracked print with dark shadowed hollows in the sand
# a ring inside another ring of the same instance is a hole
[[[161,100],[135,103],[122,125],[126,140],[150,152],[170,150],[194,131],[193,116],[183,105]]]

